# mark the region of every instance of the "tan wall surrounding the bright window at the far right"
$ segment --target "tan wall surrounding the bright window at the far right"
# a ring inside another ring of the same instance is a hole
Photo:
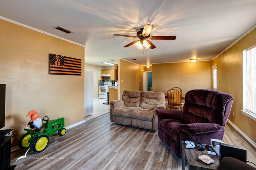
[[[229,93],[234,97],[229,120],[232,121],[249,138],[256,142],[256,123],[243,115],[243,85],[242,85],[242,57],[243,51],[256,44],[256,29],[232,45],[224,53],[213,60],[218,64],[218,90]],[[232,112],[234,111],[234,116]]]

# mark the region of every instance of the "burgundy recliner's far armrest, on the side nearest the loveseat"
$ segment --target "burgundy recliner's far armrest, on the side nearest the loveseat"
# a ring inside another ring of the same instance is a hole
[[[181,120],[183,118],[182,111],[156,109],[156,110],[154,110],[154,113],[156,114],[158,119],[177,119],[177,120]]]

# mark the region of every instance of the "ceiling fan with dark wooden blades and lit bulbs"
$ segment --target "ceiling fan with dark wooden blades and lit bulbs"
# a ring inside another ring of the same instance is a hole
[[[136,40],[134,42],[128,43],[124,47],[129,47],[130,45],[134,44],[138,49],[143,49],[143,47],[146,47],[146,49],[154,49],[156,46],[150,42],[149,40],[176,40],[176,36],[150,36],[151,30],[154,28],[153,25],[145,24],[144,28],[140,28],[140,31],[137,32],[137,36],[128,36],[128,35],[122,35],[122,34],[114,34],[113,36],[122,36],[122,37],[132,37],[132,38],[139,38],[139,40]]]

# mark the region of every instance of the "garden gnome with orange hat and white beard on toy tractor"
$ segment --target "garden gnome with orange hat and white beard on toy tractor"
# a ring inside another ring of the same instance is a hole
[[[28,125],[26,126],[26,128],[31,128],[31,130],[34,130],[35,132],[40,131],[40,128],[43,125],[43,122],[41,120],[41,118],[39,117],[39,115],[37,114],[36,111],[30,111],[28,112],[28,115],[30,116],[30,121],[28,122]]]

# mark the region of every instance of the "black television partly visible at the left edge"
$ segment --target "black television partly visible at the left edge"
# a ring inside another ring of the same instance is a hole
[[[5,120],[5,84],[0,84],[0,128],[4,127]]]

